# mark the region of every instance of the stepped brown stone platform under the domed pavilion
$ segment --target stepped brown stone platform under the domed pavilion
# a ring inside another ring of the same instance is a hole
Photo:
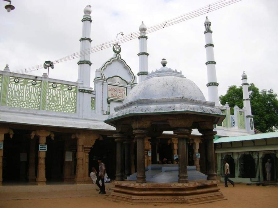
[[[223,200],[217,181],[145,183],[114,181],[110,200],[130,204],[198,204]]]

